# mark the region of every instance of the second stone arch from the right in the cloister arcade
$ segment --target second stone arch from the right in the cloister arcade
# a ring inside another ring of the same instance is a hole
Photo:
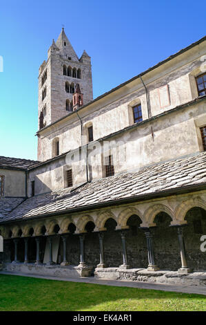
[[[172,210],[167,207],[167,205],[163,205],[163,204],[156,204],[156,205],[151,205],[150,207],[148,207],[148,209],[145,211],[144,213],[144,223],[143,226],[146,227],[153,227],[156,225],[156,223],[154,223],[154,219],[156,217],[157,214],[159,214],[160,212],[165,212],[166,214],[168,214],[172,221],[174,221],[174,213],[172,212]]]

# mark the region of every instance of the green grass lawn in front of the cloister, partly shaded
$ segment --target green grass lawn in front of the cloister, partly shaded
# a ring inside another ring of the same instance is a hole
[[[206,310],[206,296],[0,275],[3,310]]]

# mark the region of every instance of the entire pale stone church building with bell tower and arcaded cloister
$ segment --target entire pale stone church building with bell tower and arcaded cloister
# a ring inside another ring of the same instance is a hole
[[[1,272],[206,284],[206,37],[93,99],[62,29],[38,106],[37,161],[0,156]]]

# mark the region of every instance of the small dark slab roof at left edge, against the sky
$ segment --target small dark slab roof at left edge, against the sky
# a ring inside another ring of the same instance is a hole
[[[8,168],[28,169],[28,167],[36,165],[37,163],[39,163],[39,161],[0,156],[0,168],[8,167]]]

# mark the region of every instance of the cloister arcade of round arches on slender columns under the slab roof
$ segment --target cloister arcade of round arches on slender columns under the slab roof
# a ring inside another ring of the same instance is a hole
[[[171,198],[10,223],[0,225],[0,232],[7,262],[41,264],[48,240],[52,265],[52,241],[59,236],[55,263],[62,266],[191,272],[206,269],[200,250],[205,210],[203,196]]]

